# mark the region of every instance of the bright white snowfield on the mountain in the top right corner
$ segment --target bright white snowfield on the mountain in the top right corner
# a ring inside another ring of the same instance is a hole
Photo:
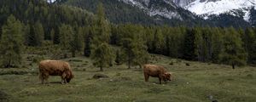
[[[250,9],[256,6],[256,0],[195,0],[184,8],[202,15],[205,19],[215,14],[237,14],[242,13],[244,20],[249,20]]]

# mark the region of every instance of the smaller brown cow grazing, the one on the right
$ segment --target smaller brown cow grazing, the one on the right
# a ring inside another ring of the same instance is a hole
[[[161,81],[172,81],[172,74],[166,71],[163,66],[160,65],[143,65],[143,72],[145,77],[145,82],[148,82],[148,78],[150,77],[158,77],[159,82]]]

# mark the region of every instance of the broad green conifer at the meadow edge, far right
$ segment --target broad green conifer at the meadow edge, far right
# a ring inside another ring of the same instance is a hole
[[[219,54],[220,61],[224,64],[246,65],[247,53],[242,48],[241,35],[233,28],[224,29],[223,48]]]

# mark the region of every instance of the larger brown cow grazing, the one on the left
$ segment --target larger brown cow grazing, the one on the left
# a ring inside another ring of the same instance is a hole
[[[73,73],[70,65],[61,60],[43,60],[39,63],[39,79],[44,84],[44,80],[48,82],[49,76],[61,76],[61,83],[70,82]]]

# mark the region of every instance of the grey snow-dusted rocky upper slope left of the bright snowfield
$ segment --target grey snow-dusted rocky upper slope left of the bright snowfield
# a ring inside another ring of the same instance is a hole
[[[160,16],[166,19],[178,19],[183,20],[183,16],[180,12],[185,12],[185,10],[180,10],[181,8],[173,3],[172,0],[119,0],[127,4],[136,6],[137,8],[143,9],[150,16]],[[188,12],[191,18],[195,16]]]

